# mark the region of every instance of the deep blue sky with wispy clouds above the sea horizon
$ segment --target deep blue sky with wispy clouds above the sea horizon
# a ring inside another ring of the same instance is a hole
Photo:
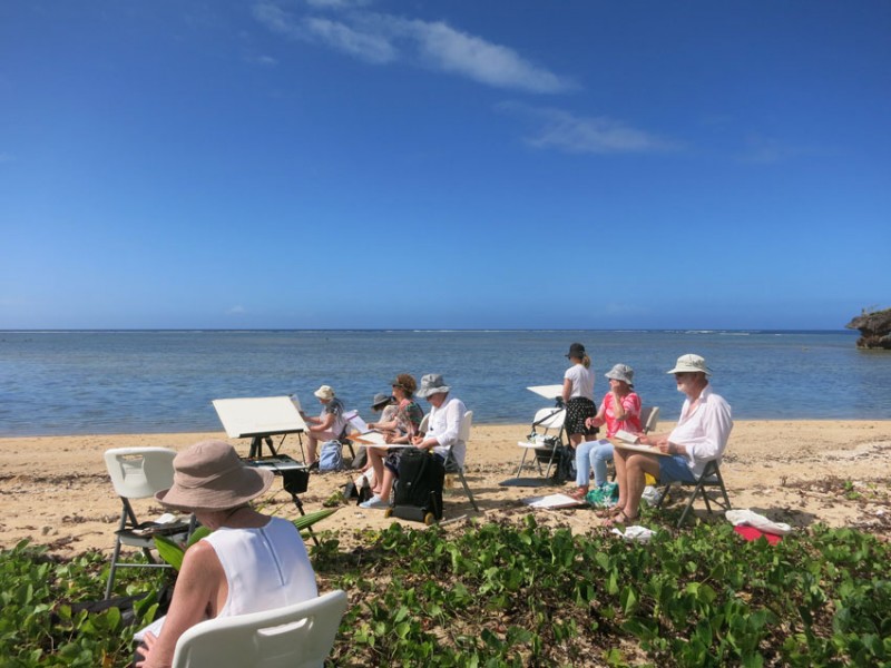
[[[836,328],[891,3],[0,4],[0,328]]]

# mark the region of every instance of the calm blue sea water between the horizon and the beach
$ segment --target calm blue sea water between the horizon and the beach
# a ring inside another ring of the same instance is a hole
[[[891,354],[859,351],[854,332],[768,331],[76,331],[0,332],[0,435],[222,430],[210,401],[332,385],[369,419],[400,372],[442,373],[478,423],[529,423],[552,405],[526,390],[560,383],[569,344],[597,375],[618,362],[663,419],[683,396],[666,371],[706,357],[713,385],[752,419],[891,419]],[[423,403],[423,402],[422,402]]]

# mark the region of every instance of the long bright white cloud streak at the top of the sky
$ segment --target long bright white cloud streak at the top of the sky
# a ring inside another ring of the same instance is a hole
[[[315,0],[313,8],[343,9],[359,2]],[[254,18],[290,39],[321,43],[373,65],[419,63],[433,71],[467,77],[498,88],[554,94],[577,85],[522,58],[513,49],[456,30],[442,21],[403,19],[361,9],[336,20],[319,14],[294,16],[274,2],[254,7]]]

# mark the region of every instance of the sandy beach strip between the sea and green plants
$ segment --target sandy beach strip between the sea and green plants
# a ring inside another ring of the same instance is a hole
[[[670,429],[662,423],[658,431]],[[521,456],[517,441],[528,424],[474,425],[468,450],[468,482],[480,507],[477,513],[454,481],[446,490],[447,527],[478,518],[499,520],[530,512],[521,499],[571,491],[562,488],[508,488],[499,482],[513,477]],[[114,494],[102,461],[109,448],[168,446],[182,450],[222,432],[195,434],[126,434],[91,436],[41,436],[0,439],[0,546],[10,548],[22,539],[49,546],[71,557],[89,549],[110,551],[120,504]],[[247,441],[231,441],[247,454]],[[282,452],[300,458],[295,436],[285,440]],[[822,522],[855,527],[891,537],[891,421],[742,421],[737,422],[722,465],[734,508],[750,508],[793,527]],[[525,474],[532,474],[529,470]],[[347,481],[346,472],[313,474],[303,500],[306,511],[322,508]],[[265,501],[278,514],[295,517],[296,509],[281,485]],[[145,501],[138,508],[147,517],[163,512]],[[696,507],[697,515],[705,509]],[[588,532],[600,520],[587,509],[533,511],[541,523],[571,527]],[[388,527],[382,511],[342,505],[319,530],[337,532],[342,546],[359,540],[365,529]],[[650,522],[658,524],[658,515]],[[407,522],[412,527],[423,527]],[[663,525],[667,527],[665,522]]]

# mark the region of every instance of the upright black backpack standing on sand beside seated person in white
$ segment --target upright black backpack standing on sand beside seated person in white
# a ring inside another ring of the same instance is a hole
[[[442,487],[446,466],[438,456],[418,448],[407,448],[399,458],[399,481],[392,514],[403,520],[425,522],[442,519]]]

